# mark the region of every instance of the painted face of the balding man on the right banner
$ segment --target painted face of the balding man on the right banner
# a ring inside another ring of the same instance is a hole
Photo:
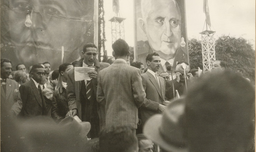
[[[181,13],[174,0],[150,0],[140,26],[160,56],[174,56],[181,43]]]

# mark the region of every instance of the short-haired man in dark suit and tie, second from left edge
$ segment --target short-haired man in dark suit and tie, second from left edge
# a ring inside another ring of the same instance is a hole
[[[19,87],[22,100],[21,117],[47,115],[46,103],[42,88],[39,85],[44,74],[44,67],[40,64],[34,64],[30,72],[31,79]]]

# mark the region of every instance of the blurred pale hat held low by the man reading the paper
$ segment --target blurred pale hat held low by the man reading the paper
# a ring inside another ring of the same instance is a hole
[[[83,139],[87,137],[91,129],[90,122],[82,122],[78,116],[68,116],[64,118],[58,125],[74,134],[80,135]]]

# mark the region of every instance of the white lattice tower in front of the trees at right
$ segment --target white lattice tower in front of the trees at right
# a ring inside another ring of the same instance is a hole
[[[215,58],[215,31],[205,30],[200,33],[202,36],[202,56],[203,56],[203,72],[211,70],[211,64]]]

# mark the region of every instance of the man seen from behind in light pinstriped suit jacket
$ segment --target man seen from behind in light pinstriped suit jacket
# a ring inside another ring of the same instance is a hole
[[[106,106],[106,127],[127,125],[137,129],[138,107],[146,97],[141,83],[140,69],[127,65],[128,44],[118,39],[112,44],[116,61],[100,71],[97,101]]]

